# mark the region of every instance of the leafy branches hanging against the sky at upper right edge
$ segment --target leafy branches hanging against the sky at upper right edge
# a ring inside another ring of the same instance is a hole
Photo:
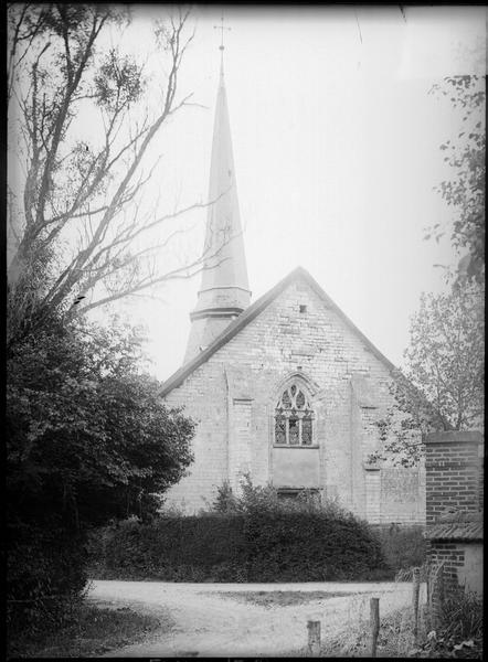
[[[443,181],[437,191],[457,215],[450,229],[453,246],[467,252],[459,263],[458,278],[484,281],[485,277],[485,76],[450,76],[432,92],[449,96],[454,107],[463,109],[463,130],[457,139],[441,146],[453,169],[452,179]],[[437,241],[446,232],[441,223],[428,229],[425,238]]]

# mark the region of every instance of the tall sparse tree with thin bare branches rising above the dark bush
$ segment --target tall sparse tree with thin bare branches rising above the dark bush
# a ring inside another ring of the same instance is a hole
[[[189,277],[209,257],[173,260],[166,269],[156,264],[155,253],[184,232],[178,225],[159,244],[140,241],[206,204],[163,215],[141,213],[139,205],[153,170],[142,170],[148,148],[191,96],[177,99],[182,58],[193,39],[188,19],[189,10],[180,9],[156,24],[167,73],[161,103],[151,113],[145,103],[144,65],[118,49],[97,49],[104,30],[130,21],[126,9],[9,7],[11,134],[19,131],[25,157],[22,190],[17,195],[9,190],[9,342],[54,310],[67,317],[86,312]],[[76,137],[81,109],[95,118],[89,139]]]

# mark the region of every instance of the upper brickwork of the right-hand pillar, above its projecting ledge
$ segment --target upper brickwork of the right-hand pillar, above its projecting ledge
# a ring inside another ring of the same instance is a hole
[[[433,524],[447,508],[466,513],[479,511],[480,460],[482,442],[477,431],[449,431],[427,435],[426,520]]]

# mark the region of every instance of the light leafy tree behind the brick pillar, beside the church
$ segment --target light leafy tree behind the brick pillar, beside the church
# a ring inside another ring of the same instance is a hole
[[[404,352],[406,370],[399,371],[392,385],[395,404],[379,421],[383,451],[405,466],[418,461],[426,433],[482,423],[482,293],[471,281],[446,295],[422,295]]]

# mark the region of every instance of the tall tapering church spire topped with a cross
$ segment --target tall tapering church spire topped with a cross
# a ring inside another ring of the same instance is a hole
[[[223,35],[223,25],[220,28]],[[221,42],[221,53],[223,53]],[[219,77],[209,210],[204,244],[204,269],[184,362],[208,346],[251,301],[247,267],[238,212],[231,125],[223,62]]]

